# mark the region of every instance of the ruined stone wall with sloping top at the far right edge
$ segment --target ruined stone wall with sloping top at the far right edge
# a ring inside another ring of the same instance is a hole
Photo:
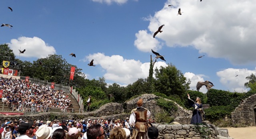
[[[243,100],[231,113],[233,125],[238,126],[256,126],[254,107],[256,106],[256,94]]]

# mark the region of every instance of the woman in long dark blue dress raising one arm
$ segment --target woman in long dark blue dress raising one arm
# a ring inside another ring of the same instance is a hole
[[[190,96],[188,94],[188,103],[190,106],[194,107],[193,115],[191,118],[191,124],[196,124],[196,123],[202,123],[203,115],[204,115],[204,110],[203,110],[203,105],[201,103],[200,98],[196,97],[196,102],[190,99]]]

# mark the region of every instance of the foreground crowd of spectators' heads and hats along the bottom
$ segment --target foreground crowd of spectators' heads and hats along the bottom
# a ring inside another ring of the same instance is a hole
[[[120,127],[112,126],[110,119],[6,120],[1,123],[0,136],[1,139],[129,139],[131,130],[121,120],[118,121]],[[158,130],[150,127],[148,137],[157,139]]]

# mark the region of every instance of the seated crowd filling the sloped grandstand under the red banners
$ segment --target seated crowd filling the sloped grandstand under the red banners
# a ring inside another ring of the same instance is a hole
[[[25,82],[20,79],[0,77],[0,90],[3,90],[2,102],[8,106],[14,106],[13,109],[19,112],[44,112],[48,111],[49,107],[68,112],[72,104],[68,94],[62,90],[54,90],[49,85]]]

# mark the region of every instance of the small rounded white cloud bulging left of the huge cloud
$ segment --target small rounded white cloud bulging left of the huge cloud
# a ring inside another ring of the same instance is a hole
[[[140,30],[136,35],[134,45],[143,52],[151,52],[151,49],[157,51],[161,49],[162,45],[157,39],[154,39],[151,34],[148,34],[146,30]]]

